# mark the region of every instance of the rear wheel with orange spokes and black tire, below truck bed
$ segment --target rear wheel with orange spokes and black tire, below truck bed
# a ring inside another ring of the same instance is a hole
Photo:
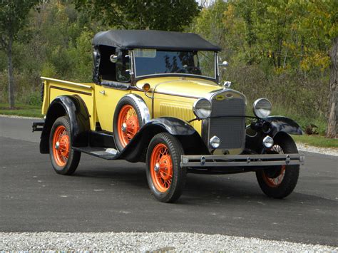
[[[71,124],[66,116],[57,118],[51,127],[49,156],[58,174],[71,175],[78,167],[81,153],[71,149]]]

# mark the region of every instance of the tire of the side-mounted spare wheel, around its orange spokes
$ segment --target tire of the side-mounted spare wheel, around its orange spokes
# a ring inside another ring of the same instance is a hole
[[[118,148],[118,150],[120,150],[120,151],[123,150],[123,148],[126,147],[126,143],[123,143],[123,141],[121,141],[122,137],[119,135],[118,130],[119,130],[119,128],[122,128],[122,125],[118,125],[118,117],[121,113],[121,109],[125,105],[131,105],[133,107],[133,109],[135,110],[136,115],[138,117],[139,129],[143,127],[143,120],[142,120],[142,116],[141,116],[141,113],[140,113],[140,108],[138,108],[137,103],[135,103],[133,98],[130,98],[128,96],[121,98],[121,100],[116,105],[114,118],[113,118],[113,133],[114,133],[115,144],[116,144],[116,148]]]

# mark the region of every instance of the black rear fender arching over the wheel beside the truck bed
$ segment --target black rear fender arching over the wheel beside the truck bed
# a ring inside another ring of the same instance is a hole
[[[49,153],[49,135],[55,120],[68,115],[71,122],[71,146],[86,147],[88,145],[90,115],[86,104],[78,95],[61,95],[55,98],[48,107],[45,123],[41,133],[40,153]]]

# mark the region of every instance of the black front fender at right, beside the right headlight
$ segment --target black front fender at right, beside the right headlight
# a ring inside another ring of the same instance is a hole
[[[271,124],[270,135],[275,137],[277,133],[284,132],[290,135],[302,135],[303,130],[295,120],[283,116],[270,116],[265,119]]]

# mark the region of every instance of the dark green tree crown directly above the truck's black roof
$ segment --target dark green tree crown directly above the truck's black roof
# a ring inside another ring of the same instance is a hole
[[[195,0],[73,0],[93,19],[119,29],[183,31],[197,16]]]

